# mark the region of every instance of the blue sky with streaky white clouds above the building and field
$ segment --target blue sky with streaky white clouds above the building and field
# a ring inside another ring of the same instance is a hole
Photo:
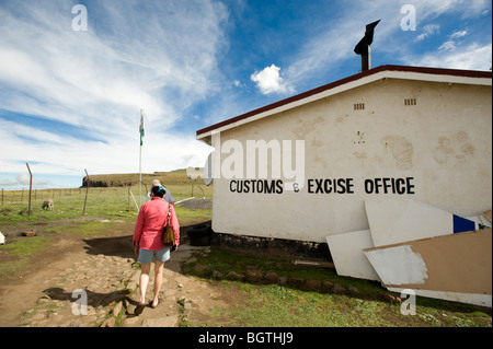
[[[196,130],[358,73],[376,20],[372,67],[492,66],[489,0],[0,0],[0,187],[137,173],[140,109],[142,172],[203,166]]]

